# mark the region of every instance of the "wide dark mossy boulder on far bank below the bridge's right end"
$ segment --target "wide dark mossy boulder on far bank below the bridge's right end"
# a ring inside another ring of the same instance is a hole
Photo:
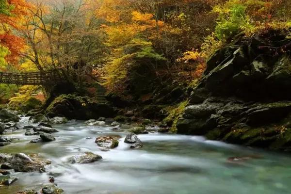
[[[61,95],[53,100],[46,110],[51,116],[63,115],[67,119],[98,119],[114,117],[115,110],[110,104],[101,104],[89,97]]]

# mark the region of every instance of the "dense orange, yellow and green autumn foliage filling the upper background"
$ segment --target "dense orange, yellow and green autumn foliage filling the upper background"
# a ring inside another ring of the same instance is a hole
[[[65,67],[71,81],[103,78],[116,93],[192,84],[238,34],[289,27],[290,8],[289,0],[1,0],[0,69]]]

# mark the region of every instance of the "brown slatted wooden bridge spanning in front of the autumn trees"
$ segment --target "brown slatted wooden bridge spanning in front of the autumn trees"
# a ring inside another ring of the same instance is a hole
[[[0,72],[0,83],[16,85],[50,85],[64,82],[63,69],[53,69],[48,71],[6,73]]]

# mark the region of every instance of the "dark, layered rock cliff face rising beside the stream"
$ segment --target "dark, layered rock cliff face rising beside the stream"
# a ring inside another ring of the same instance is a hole
[[[291,39],[269,31],[218,50],[177,122],[178,133],[291,148]]]

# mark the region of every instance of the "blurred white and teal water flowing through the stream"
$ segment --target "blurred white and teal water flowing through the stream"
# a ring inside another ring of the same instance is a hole
[[[26,122],[22,119],[23,125]],[[19,138],[0,152],[39,153],[49,159],[49,173],[16,173],[19,180],[0,188],[0,194],[15,194],[24,189],[39,190],[49,181],[66,194],[289,194],[291,193],[291,156],[266,152],[199,136],[174,134],[138,135],[144,143],[131,150],[125,132],[112,127],[86,126],[83,122],[55,125],[56,141],[30,144],[35,136],[17,131],[8,136]],[[101,151],[95,138],[116,135],[119,146]],[[92,139],[88,139],[91,137]],[[80,152],[99,154],[103,160],[90,164],[70,164],[67,158]],[[231,157],[249,160],[231,162]]]

